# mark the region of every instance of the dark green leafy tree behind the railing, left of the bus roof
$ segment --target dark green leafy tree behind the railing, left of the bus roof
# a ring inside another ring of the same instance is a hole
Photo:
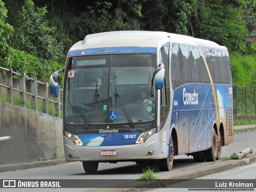
[[[48,26],[46,12],[46,6],[35,8],[32,0],[25,0],[14,26],[12,47],[39,58],[60,61],[63,58],[63,46],[55,38],[56,28]]]

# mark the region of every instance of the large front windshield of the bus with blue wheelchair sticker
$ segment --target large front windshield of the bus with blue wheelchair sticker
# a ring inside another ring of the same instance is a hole
[[[156,118],[154,54],[76,56],[68,59],[64,121],[138,123]]]

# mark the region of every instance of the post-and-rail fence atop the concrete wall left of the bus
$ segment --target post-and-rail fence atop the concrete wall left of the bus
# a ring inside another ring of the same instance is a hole
[[[0,69],[6,71],[6,85],[0,84],[0,86],[7,88],[7,98],[8,102],[13,104],[13,90],[20,92],[20,105],[26,107],[26,94],[31,96],[31,102],[34,103],[33,109],[38,111],[38,98],[42,99],[43,101],[43,112],[48,114],[48,104],[49,102],[54,103],[54,108],[57,110],[56,116],[60,117],[61,112],[61,102],[60,96],[55,98],[55,100],[49,99],[48,95],[48,82],[40,82],[36,79],[36,77],[27,77],[25,73],[19,74],[12,71],[12,68],[6,69],[0,67]],[[16,89],[13,87],[13,74],[19,76],[20,80],[20,89]],[[26,92],[26,79],[31,80],[31,93]],[[38,96],[37,84],[42,84],[43,94],[42,96]],[[59,92],[62,91],[59,86]]]

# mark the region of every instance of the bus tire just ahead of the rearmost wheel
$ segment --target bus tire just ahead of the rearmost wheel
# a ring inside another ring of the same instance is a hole
[[[218,138],[214,129],[212,129],[212,148],[204,152],[206,161],[216,161],[218,153]]]

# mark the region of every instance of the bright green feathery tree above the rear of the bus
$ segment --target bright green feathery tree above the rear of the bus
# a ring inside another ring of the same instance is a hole
[[[245,5],[244,0],[200,0],[200,25],[195,28],[195,36],[238,50],[246,36],[244,26],[237,22],[241,17],[237,9]]]

